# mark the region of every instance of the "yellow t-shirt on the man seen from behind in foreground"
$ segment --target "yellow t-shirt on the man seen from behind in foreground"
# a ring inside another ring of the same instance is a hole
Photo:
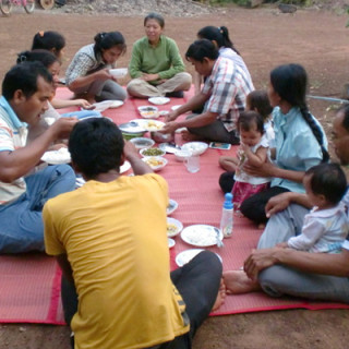
[[[79,294],[75,348],[146,348],[189,330],[170,279],[166,207],[158,174],[125,177],[47,202],[48,254],[68,254]]]

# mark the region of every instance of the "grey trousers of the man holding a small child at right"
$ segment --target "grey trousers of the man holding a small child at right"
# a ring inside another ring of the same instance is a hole
[[[298,236],[308,213],[306,208],[291,204],[287,209],[272,216],[257,248],[273,248],[278,242]],[[264,292],[270,297],[288,294],[311,300],[349,303],[347,277],[310,274],[284,265],[274,265],[260,273],[258,281]]]

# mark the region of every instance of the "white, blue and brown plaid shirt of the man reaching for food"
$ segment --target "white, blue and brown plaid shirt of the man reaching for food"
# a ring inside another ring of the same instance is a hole
[[[217,112],[228,132],[244,110],[248,94],[253,91],[251,80],[231,60],[218,57],[202,93],[210,95],[204,111]]]

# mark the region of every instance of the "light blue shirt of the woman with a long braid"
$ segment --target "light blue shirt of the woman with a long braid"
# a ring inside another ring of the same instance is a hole
[[[291,108],[286,115],[281,112],[279,107],[276,107],[273,110],[273,119],[276,147],[275,163],[279,168],[306,171],[321,163],[323,159],[321,146],[298,107]],[[317,120],[314,117],[313,119],[323,132],[324,146],[326,147],[325,132]],[[274,178],[270,185],[282,186],[292,192],[305,193],[302,183],[287,179]]]

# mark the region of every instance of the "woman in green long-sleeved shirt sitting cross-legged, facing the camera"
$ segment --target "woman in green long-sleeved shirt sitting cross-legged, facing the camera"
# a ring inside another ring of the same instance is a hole
[[[165,21],[157,13],[144,19],[145,34],[134,43],[129,65],[132,81],[128,93],[133,97],[183,97],[192,83],[174,40],[163,35]]]

